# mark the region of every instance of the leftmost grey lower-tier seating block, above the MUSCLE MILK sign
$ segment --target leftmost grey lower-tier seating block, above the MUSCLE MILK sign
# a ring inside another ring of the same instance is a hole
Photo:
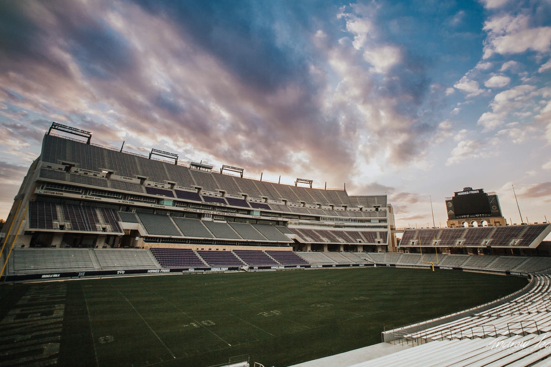
[[[89,249],[13,249],[14,274],[96,270]]]

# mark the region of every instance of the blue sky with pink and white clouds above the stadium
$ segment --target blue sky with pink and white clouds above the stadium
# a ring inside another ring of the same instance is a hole
[[[0,218],[52,121],[350,195],[551,220],[551,1],[0,0]],[[510,220],[511,218],[511,220]]]

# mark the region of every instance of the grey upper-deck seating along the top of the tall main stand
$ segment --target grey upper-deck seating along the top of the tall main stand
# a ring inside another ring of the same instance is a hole
[[[218,174],[217,172],[202,171],[191,169],[187,166],[175,165],[157,159],[147,159],[143,156],[132,153],[119,152],[117,149],[97,147],[93,144],[72,141],[56,136],[45,136],[44,148],[42,151],[42,160],[52,163],[60,163],[62,160],[72,161],[77,167],[101,171],[111,170],[116,175],[136,178],[137,175],[148,177],[149,180],[157,182],[173,181],[181,187],[194,188],[202,187],[203,190],[218,192],[222,190],[229,195],[247,194],[249,197],[262,198],[280,201],[286,199],[289,202],[305,202],[307,204],[335,204],[337,206],[347,205],[348,207],[364,206],[372,208],[378,205],[381,208],[379,212],[347,212],[331,210],[322,210],[306,207],[277,207],[280,211],[294,212],[313,215],[332,215],[338,217],[385,217],[386,196],[348,196],[344,190],[320,190],[309,187],[296,187],[284,184],[274,184],[267,181],[256,181],[244,179],[241,177]],[[66,180],[64,172],[56,170],[42,169],[41,177]],[[99,187],[111,187],[116,190],[125,190],[133,192],[144,192],[144,187],[137,182],[125,181],[113,177],[109,180],[100,177],[91,177],[84,175],[71,174],[71,182],[78,184],[94,185]],[[145,188],[152,195],[163,195],[172,197],[169,193]],[[170,191],[171,192],[171,191]],[[180,197],[176,192],[176,197],[199,201],[199,198]],[[211,201],[212,202],[212,201]],[[249,207],[245,202],[234,202],[231,205]],[[271,209],[267,204],[251,204],[255,209]]]

